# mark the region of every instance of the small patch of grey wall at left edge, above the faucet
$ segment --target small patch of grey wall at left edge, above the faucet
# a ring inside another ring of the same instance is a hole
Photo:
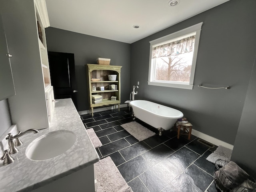
[[[12,125],[8,100],[0,101],[0,136]]]

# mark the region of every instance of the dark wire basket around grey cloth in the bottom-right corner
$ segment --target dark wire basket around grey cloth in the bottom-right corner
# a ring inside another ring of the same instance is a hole
[[[215,163],[214,182],[216,187],[222,192],[253,192],[256,190],[256,182],[253,178],[249,178],[252,182],[250,185],[253,188],[242,186],[233,180],[230,180],[225,174],[220,171],[220,168],[228,164],[228,161],[218,159]]]

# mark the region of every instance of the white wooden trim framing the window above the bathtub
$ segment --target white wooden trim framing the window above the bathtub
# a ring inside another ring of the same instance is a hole
[[[203,22],[190,26],[188,28],[182,29],[180,31],[174,32],[172,34],[166,35],[164,37],[155,39],[150,41],[150,56],[149,56],[149,70],[148,70],[148,85],[154,86],[164,86],[164,87],[173,87],[173,88],[182,88],[182,89],[193,89],[194,85],[194,74],[196,70],[196,57],[198,52],[198,45],[200,39],[200,32]],[[188,34],[192,34],[196,32],[195,44],[194,44],[194,54],[191,66],[191,73],[190,73],[190,84],[179,84],[179,83],[170,83],[170,82],[159,82],[154,80],[154,68],[151,66],[151,57],[152,57],[152,46],[160,43],[164,43],[180,36],[185,36]],[[152,75],[151,75],[152,74]]]

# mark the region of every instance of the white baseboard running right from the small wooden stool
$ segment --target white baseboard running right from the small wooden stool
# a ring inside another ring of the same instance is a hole
[[[214,145],[217,145],[217,146],[222,145],[222,146],[224,146],[226,148],[229,148],[229,149],[232,149],[232,150],[233,150],[233,147],[234,147],[233,145],[231,145],[229,143],[226,143],[226,142],[224,142],[222,140],[214,138],[214,137],[212,137],[210,135],[206,135],[206,134],[201,133],[201,132],[199,132],[197,130],[194,130],[194,129],[192,129],[192,135],[197,136],[197,137],[199,137],[199,138],[201,138],[203,140],[206,140],[206,141],[208,141],[208,142],[210,142],[210,143],[212,143]]]

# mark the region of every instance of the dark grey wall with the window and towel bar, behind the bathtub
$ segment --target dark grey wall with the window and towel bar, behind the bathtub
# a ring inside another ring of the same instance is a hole
[[[231,0],[131,45],[136,99],[181,110],[193,128],[234,144],[256,52],[256,1]],[[149,41],[204,22],[193,90],[148,85]],[[230,90],[198,88],[231,86]]]

